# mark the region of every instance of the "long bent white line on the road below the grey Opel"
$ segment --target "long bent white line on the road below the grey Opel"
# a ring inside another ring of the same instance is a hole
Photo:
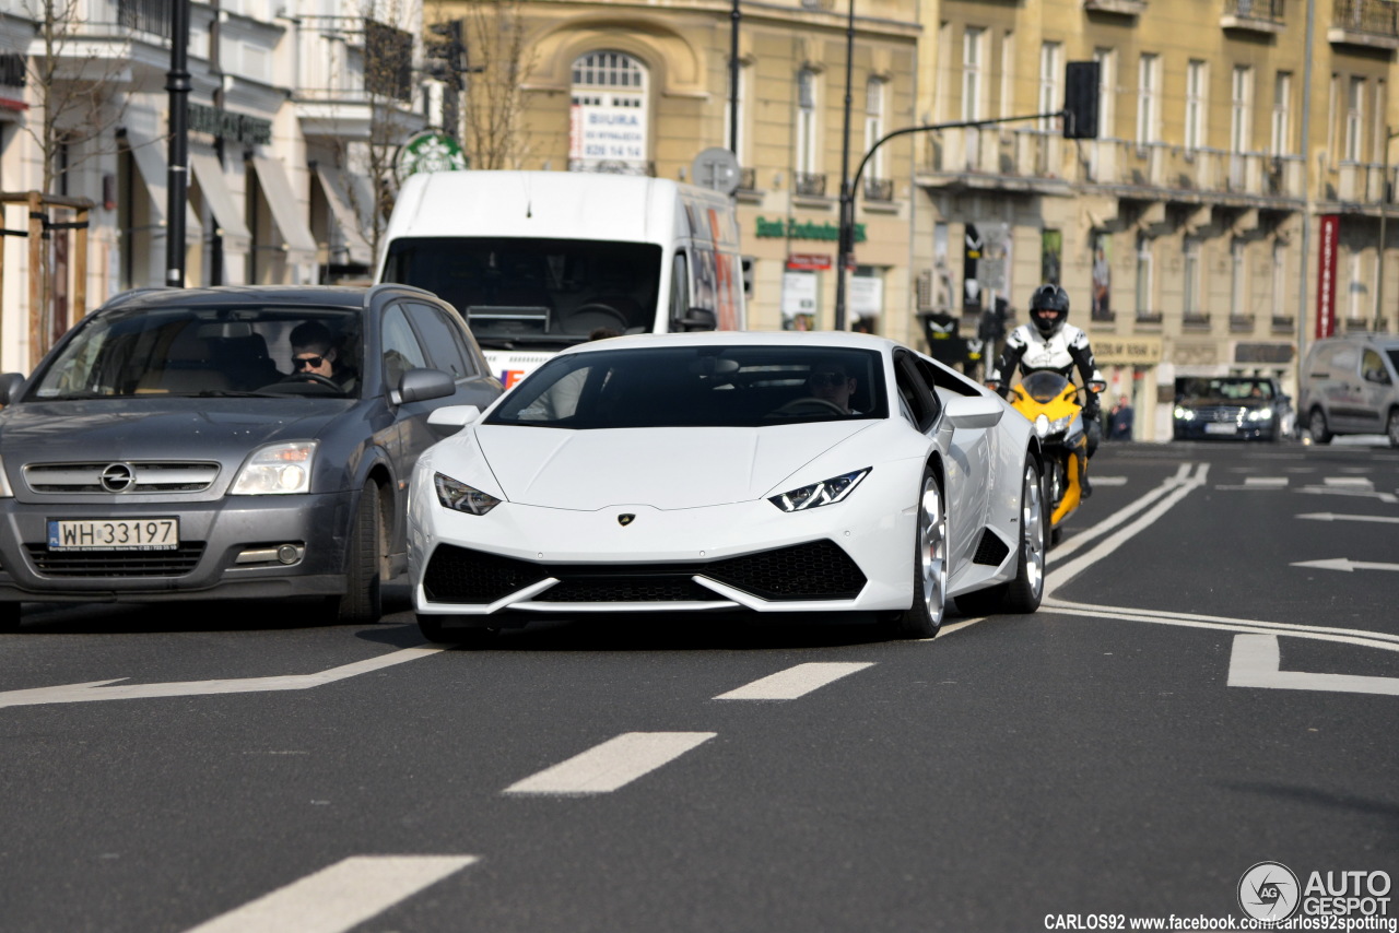
[[[190,680],[169,684],[123,684],[106,687],[125,677],[94,680],[85,684],[62,684],[57,687],[32,687],[29,690],[7,690],[0,692],[0,708],[35,706],[41,704],[85,704],[104,699],[147,699],[152,697],[201,697],[208,694],[257,694],[277,690],[309,690],[332,684],[347,677],[358,677],[404,662],[417,660],[445,650],[442,645],[403,648],[388,655],[357,660],[340,667],[323,670],[319,674],[283,674],[277,677],[242,677],[236,680]]]

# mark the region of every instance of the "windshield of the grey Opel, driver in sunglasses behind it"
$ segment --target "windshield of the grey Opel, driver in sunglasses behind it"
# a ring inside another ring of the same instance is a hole
[[[28,399],[358,397],[361,343],[334,308],[122,308],[83,322]]]

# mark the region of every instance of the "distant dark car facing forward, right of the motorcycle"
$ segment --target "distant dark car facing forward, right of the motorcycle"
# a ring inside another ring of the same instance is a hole
[[[1177,441],[1277,441],[1293,429],[1291,399],[1272,376],[1181,376],[1172,411]]]

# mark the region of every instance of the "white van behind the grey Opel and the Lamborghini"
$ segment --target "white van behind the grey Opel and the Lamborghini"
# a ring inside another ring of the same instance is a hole
[[[505,387],[599,327],[744,329],[732,201],[659,178],[411,175],[389,218],[378,281],[455,305]]]

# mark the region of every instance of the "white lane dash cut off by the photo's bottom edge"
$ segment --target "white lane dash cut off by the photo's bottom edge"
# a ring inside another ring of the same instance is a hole
[[[187,933],[341,933],[476,860],[474,855],[353,856]]]

